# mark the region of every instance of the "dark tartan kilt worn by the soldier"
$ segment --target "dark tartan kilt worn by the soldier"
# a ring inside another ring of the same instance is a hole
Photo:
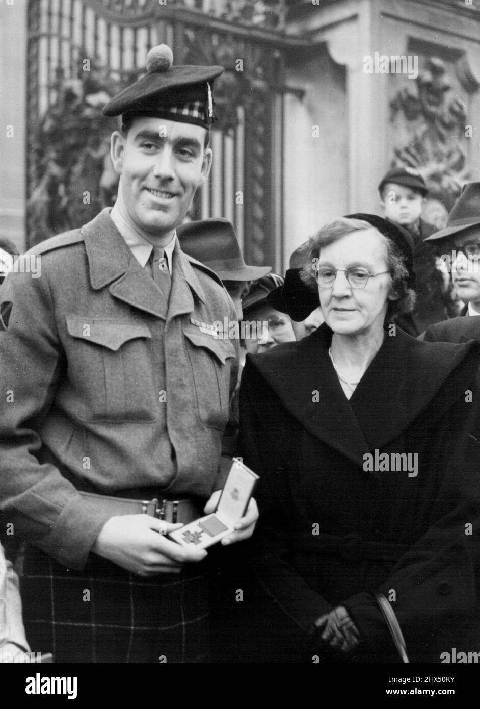
[[[21,596],[30,647],[54,662],[207,662],[206,569],[200,562],[145,579],[91,554],[74,571],[27,545]]]

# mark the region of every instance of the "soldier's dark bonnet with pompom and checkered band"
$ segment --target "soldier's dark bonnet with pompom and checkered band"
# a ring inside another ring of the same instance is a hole
[[[223,67],[173,66],[167,45],[151,49],[147,74],[127,86],[103,108],[105,116],[155,116],[209,128],[213,113],[212,84]]]

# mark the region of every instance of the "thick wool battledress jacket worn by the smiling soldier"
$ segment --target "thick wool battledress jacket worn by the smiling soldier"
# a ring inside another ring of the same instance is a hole
[[[236,316],[178,242],[167,307],[108,210],[28,253],[40,277],[0,291],[0,502],[16,534],[81,569],[110,514],[79,490],[205,500],[221,486],[238,343],[212,324]]]

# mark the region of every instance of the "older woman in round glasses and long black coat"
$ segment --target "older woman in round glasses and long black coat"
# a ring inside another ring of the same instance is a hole
[[[241,454],[261,476],[250,559],[267,592],[263,661],[480,649],[480,347],[392,325],[413,306],[412,264],[411,236],[382,218],[328,223],[304,269],[325,323],[247,357]]]

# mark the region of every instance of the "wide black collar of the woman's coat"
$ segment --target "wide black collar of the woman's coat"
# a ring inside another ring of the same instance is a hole
[[[348,401],[328,357],[331,337],[324,324],[295,345],[280,345],[251,362],[304,428],[361,466],[365,453],[401,436],[476,346],[419,342],[397,328],[395,337],[386,334]],[[442,409],[457,397],[452,387]]]

